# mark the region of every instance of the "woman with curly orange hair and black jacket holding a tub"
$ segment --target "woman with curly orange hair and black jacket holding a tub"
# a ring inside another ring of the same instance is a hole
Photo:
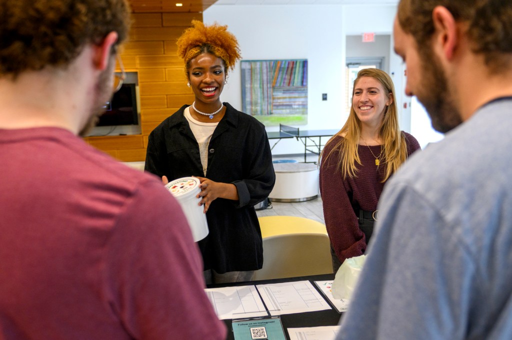
[[[227,72],[240,59],[226,26],[193,20],[177,44],[195,101],[151,132],[145,170],[164,183],[200,179],[209,228],[198,242],[206,282],[250,281],[263,265],[254,205],[268,197],[275,181],[265,127],[220,100]]]

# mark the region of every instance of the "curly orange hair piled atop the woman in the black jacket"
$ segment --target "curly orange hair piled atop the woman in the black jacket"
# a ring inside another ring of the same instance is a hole
[[[185,62],[185,74],[188,79],[190,60],[201,53],[210,53],[224,62],[224,72],[233,70],[240,59],[237,38],[227,31],[227,26],[218,24],[205,26],[199,20],[192,20],[192,26],[178,38],[178,56]]]

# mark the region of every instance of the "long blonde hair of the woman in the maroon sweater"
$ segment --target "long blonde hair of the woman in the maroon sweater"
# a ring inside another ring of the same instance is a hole
[[[357,78],[354,80],[354,87],[357,81],[362,77],[374,78],[384,88],[384,92],[388,99],[390,96],[394,97],[395,87],[393,85],[393,81],[386,72],[378,69],[360,70],[357,73]],[[354,91],[352,90],[352,96],[353,95]],[[357,152],[359,139],[361,138],[361,121],[357,118],[353,105],[350,106],[350,114],[347,122],[338,133],[331,137],[327,144],[334,143],[334,139],[339,134],[345,134],[345,137],[336,143],[329,154],[324,155],[324,152],[322,152],[320,158],[322,162],[325,162],[333,152],[338,151],[339,160],[337,160],[337,169],[342,171],[343,178],[345,179],[347,175],[349,177],[357,177],[356,163],[362,165],[359,153]],[[383,153],[385,156],[384,162],[381,164],[386,166],[386,173],[384,178],[382,178],[383,183],[386,182],[386,180],[395,173],[400,165],[407,159],[406,139],[398,126],[398,109],[394,98],[393,102],[387,106],[386,111],[384,112],[382,125],[379,129],[379,137],[383,141]]]

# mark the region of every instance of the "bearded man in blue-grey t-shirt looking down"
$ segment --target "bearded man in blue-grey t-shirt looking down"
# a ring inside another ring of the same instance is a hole
[[[446,135],[387,184],[337,339],[512,339],[512,2],[401,0],[394,42]]]

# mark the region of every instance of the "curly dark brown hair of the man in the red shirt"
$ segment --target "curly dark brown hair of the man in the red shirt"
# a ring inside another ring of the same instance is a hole
[[[0,0],[0,77],[66,67],[88,43],[130,29],[127,0]]]

